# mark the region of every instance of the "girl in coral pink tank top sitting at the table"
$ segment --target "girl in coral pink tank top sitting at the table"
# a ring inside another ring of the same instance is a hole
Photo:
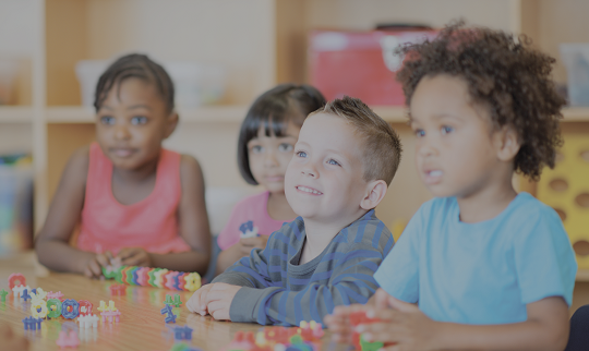
[[[88,277],[115,258],[204,274],[211,234],[201,167],[161,147],[178,124],[169,75],[146,56],[122,57],[100,76],[94,106],[96,143],[63,171],[37,239],[39,262]]]

